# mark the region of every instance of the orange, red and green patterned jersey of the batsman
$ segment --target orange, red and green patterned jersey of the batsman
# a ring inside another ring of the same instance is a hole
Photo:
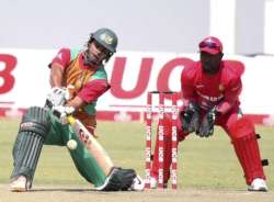
[[[96,125],[95,121],[95,105],[96,98],[104,93],[109,88],[98,90],[99,94],[92,96],[89,99],[89,93],[96,85],[95,81],[104,81],[107,83],[107,75],[104,66],[90,67],[84,65],[83,52],[81,49],[62,48],[53,61],[59,63],[64,66],[62,86],[69,90],[72,100],[76,96],[80,97],[88,104],[79,109],[75,113],[75,117],[81,120],[89,131],[93,133]],[[92,86],[93,85],[93,86]]]

